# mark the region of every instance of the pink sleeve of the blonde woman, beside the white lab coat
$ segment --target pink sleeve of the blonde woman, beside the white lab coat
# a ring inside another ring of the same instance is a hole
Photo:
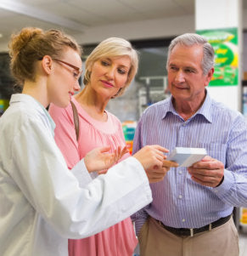
[[[59,108],[51,104],[49,114],[56,124],[55,141],[65,156],[68,168],[71,169],[80,161],[71,105],[66,108]]]

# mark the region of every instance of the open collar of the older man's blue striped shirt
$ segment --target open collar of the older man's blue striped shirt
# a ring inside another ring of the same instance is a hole
[[[203,105],[199,108],[199,110],[194,114],[193,117],[195,117],[196,115],[202,115],[203,117],[205,117],[205,119],[208,121],[208,122],[212,122],[212,111],[211,111],[211,96],[210,94],[208,93],[207,90],[205,90],[205,93],[206,93],[206,97],[205,97],[205,101],[203,103]],[[174,106],[172,104],[172,95],[171,97],[169,98],[169,105],[166,109],[166,111],[164,112],[164,115],[162,118],[165,118],[167,116],[168,113],[172,113],[173,115],[177,115],[177,111],[174,109]],[[192,118],[192,117],[190,117]],[[190,119],[189,118],[189,119]]]

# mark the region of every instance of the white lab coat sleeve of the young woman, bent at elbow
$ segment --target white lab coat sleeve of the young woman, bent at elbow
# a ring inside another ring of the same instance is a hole
[[[134,157],[81,187],[48,128],[33,119],[14,134],[8,170],[25,201],[61,236],[93,236],[151,202],[149,180]]]

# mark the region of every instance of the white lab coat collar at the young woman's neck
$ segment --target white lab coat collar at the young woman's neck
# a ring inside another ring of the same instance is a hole
[[[48,111],[45,109],[45,107],[37,100],[35,100],[31,95],[28,94],[13,94],[11,96],[11,100],[9,104],[11,105],[14,102],[24,102],[26,104],[31,104],[32,107],[36,109],[36,111],[39,111],[42,115],[48,118],[48,121],[51,125],[52,130],[55,129],[55,122],[53,122],[52,117],[49,115]]]

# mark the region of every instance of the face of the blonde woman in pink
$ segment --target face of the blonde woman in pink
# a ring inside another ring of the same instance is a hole
[[[125,87],[130,68],[131,59],[127,55],[101,58],[92,65],[89,84],[98,94],[110,99]]]

